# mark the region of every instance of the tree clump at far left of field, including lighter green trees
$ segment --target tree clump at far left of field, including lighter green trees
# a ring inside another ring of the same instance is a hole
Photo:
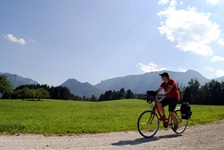
[[[20,85],[13,90],[12,85],[7,81],[7,77],[4,75],[0,75],[0,94],[2,94],[3,99],[82,99],[81,97],[70,93],[70,90],[63,86],[50,87],[46,84],[29,84]]]

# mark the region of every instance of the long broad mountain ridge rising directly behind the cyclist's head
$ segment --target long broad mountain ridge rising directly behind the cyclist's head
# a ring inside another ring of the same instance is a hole
[[[96,84],[95,87],[103,91],[107,90],[120,90],[124,88],[125,90],[131,89],[134,93],[145,93],[145,91],[151,89],[157,89],[162,80],[158,72],[150,72],[141,75],[130,75],[126,77],[118,77],[113,79],[108,79]],[[200,73],[193,70],[188,70],[186,72],[173,72],[167,71],[170,78],[174,78],[180,86],[187,86],[191,79],[198,79],[201,85],[209,82],[209,79],[203,77]]]

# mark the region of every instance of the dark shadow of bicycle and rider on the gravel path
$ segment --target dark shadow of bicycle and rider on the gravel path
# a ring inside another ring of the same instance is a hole
[[[115,143],[111,143],[114,146],[124,146],[124,145],[138,145],[146,142],[153,142],[164,138],[176,138],[181,136],[180,134],[171,134],[171,135],[163,135],[163,136],[154,136],[152,138],[139,138],[135,140],[127,140],[127,141],[118,141]]]

